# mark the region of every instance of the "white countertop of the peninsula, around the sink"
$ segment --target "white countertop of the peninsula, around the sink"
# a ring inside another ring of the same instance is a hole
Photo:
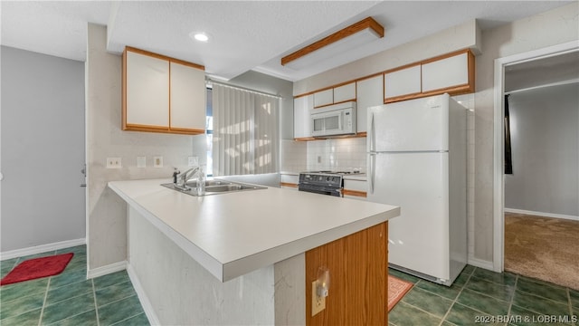
[[[222,282],[400,215],[397,206],[276,187],[193,197],[160,186],[167,182],[109,188]]]

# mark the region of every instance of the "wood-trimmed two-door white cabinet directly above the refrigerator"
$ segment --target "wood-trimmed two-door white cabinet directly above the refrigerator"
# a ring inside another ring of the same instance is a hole
[[[473,92],[474,71],[474,54],[462,50],[384,72],[384,103]]]

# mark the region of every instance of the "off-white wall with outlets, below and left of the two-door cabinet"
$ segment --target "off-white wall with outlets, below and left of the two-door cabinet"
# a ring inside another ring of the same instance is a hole
[[[88,33],[86,125],[90,274],[96,268],[127,259],[127,207],[107,183],[154,177],[170,180],[173,167],[185,169],[187,157],[194,152],[203,159],[204,149],[194,151],[192,136],[121,130],[121,57],[106,52],[105,26],[89,24]],[[199,143],[204,144],[195,140],[195,144]],[[147,168],[137,168],[138,156],[147,157]],[[152,167],[154,156],[164,158],[163,168]],[[109,157],[122,158],[122,168],[105,168]]]

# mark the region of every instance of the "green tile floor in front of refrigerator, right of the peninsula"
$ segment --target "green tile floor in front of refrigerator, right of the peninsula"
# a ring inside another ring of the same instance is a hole
[[[390,273],[414,283],[389,313],[391,326],[579,326],[579,292],[553,283],[470,265],[451,287],[394,270]]]

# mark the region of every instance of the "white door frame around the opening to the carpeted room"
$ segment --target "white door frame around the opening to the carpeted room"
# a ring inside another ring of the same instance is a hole
[[[504,94],[505,67],[508,65],[530,62],[564,53],[579,51],[579,41],[561,43],[546,48],[518,53],[495,59],[495,104],[494,104],[494,157],[493,157],[493,270],[501,273],[505,263],[505,177],[504,169]]]

